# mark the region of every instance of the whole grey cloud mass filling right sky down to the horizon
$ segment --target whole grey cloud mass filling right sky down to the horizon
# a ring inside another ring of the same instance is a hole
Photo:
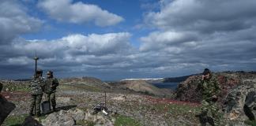
[[[152,57],[159,61],[152,69],[255,70],[254,6],[252,0],[160,1],[159,11],[145,15],[155,31],[141,37],[140,50],[160,55]]]

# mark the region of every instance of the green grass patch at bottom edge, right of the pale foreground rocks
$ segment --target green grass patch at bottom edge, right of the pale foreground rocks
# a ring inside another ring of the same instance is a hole
[[[122,126],[122,125],[126,125],[126,126],[140,126],[141,124],[139,123],[139,121],[134,120],[134,118],[131,117],[126,117],[123,115],[116,115],[115,117],[115,126]]]

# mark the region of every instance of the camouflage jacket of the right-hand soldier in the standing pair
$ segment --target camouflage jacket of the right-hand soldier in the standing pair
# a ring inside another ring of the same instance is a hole
[[[43,92],[51,94],[56,91],[56,87],[58,87],[58,80],[56,78],[47,78]]]

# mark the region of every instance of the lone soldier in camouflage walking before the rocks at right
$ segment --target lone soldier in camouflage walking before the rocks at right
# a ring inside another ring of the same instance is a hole
[[[198,85],[201,89],[202,101],[201,101],[201,125],[206,125],[208,120],[207,113],[210,111],[213,115],[212,125],[220,125],[220,117],[218,114],[218,107],[216,105],[217,95],[220,94],[220,85],[216,80],[216,77],[212,75],[209,69],[205,69],[202,74],[201,83]]]

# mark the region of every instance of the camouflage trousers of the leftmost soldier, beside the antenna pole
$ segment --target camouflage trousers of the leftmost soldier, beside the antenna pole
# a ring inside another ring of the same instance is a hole
[[[33,110],[36,107],[36,117],[40,116],[40,104],[41,104],[41,100],[42,100],[42,95],[31,95],[31,102],[30,102],[30,106],[29,106],[29,114],[32,115],[33,114]]]

